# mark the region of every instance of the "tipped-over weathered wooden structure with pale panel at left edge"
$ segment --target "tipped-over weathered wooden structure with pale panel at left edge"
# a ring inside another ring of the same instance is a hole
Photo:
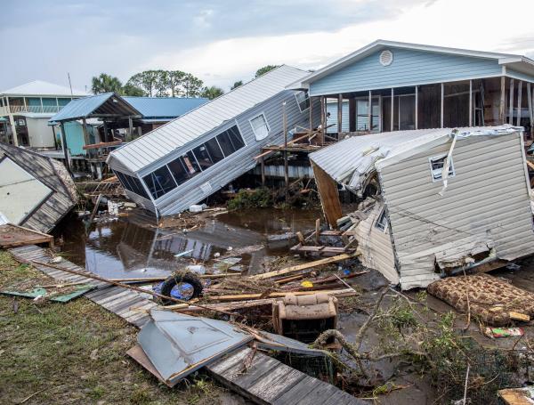
[[[0,219],[52,231],[77,203],[77,190],[60,162],[0,142]]]

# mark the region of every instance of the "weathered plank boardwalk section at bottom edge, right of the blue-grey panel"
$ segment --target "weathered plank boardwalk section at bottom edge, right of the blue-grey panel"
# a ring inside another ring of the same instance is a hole
[[[250,366],[244,363],[252,358]],[[205,366],[219,382],[255,403],[273,405],[368,404],[334,385],[292,369],[262,352],[243,347]]]

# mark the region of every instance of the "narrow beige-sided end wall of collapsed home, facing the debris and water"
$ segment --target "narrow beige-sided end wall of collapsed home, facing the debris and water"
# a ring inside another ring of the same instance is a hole
[[[388,226],[385,231],[381,231],[375,226],[382,207],[383,204],[375,204],[369,216],[358,224],[354,235],[358,239],[361,263],[370,269],[380,271],[393,284],[398,284],[399,273],[395,268],[390,228]]]

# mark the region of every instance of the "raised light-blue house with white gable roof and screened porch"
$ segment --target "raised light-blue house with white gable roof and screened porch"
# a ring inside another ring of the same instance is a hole
[[[521,55],[377,40],[288,88],[320,98],[328,133],[509,123],[531,136],[532,83]]]

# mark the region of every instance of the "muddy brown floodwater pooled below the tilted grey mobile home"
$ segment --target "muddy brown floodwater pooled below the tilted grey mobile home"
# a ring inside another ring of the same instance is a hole
[[[183,256],[188,263],[235,252],[242,257],[244,268],[255,273],[262,271],[262,263],[269,257],[287,254],[292,244],[269,243],[267,235],[312,230],[319,215],[316,210],[242,210],[219,215],[189,233],[158,229],[128,217],[93,223],[85,231],[85,224],[73,216],[55,234],[64,241],[62,255],[109,278],[166,275],[179,265],[174,255],[188,251]]]

